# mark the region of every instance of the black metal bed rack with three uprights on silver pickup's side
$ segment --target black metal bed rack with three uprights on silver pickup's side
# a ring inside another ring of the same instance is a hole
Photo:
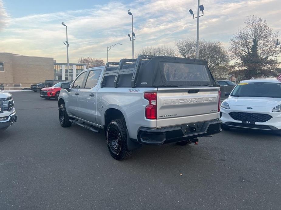
[[[115,75],[114,87],[118,87],[119,78],[120,78],[120,75],[122,75],[122,74],[132,74],[131,86],[136,87],[136,81],[137,81],[137,77],[138,77],[138,74],[139,74],[139,69],[140,69],[142,61],[152,59],[153,57],[155,57],[155,56],[153,56],[153,55],[140,55],[136,59],[123,58],[119,62],[108,62],[108,63],[106,63],[105,70],[104,70],[102,78],[101,78],[101,87],[104,87],[104,81],[105,81],[104,77],[112,76],[112,75]],[[130,64],[135,63],[135,67],[123,69],[123,65],[129,64],[129,63]],[[118,65],[118,68],[117,68],[117,70],[108,71],[109,65]]]

